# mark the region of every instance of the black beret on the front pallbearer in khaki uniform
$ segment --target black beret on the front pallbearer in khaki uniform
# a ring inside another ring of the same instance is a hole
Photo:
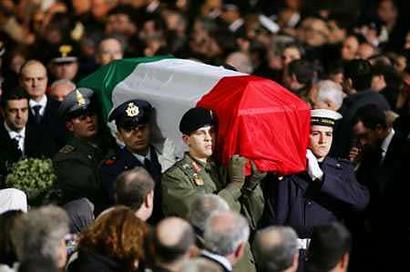
[[[213,124],[214,118],[212,111],[200,107],[192,108],[182,116],[179,123],[179,131],[185,135],[190,135],[203,126]]]

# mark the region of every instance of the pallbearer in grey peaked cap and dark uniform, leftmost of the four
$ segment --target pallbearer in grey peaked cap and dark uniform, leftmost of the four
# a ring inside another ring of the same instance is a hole
[[[106,207],[106,197],[98,177],[98,166],[113,147],[113,138],[102,135],[95,107],[91,103],[93,91],[77,88],[60,105],[71,137],[53,158],[57,186],[62,189],[63,202],[86,197],[95,205],[96,213]]]

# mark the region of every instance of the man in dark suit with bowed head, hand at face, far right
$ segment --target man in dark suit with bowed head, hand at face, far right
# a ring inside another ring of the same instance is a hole
[[[369,188],[371,196],[365,217],[365,235],[368,235],[368,241],[376,244],[368,245],[368,251],[373,253],[369,260],[377,260],[372,261],[375,268],[396,270],[392,266],[398,265],[394,260],[400,255],[403,258],[408,256],[410,246],[407,195],[410,141],[388,125],[385,112],[377,105],[358,110],[353,133],[359,146],[352,148],[350,158],[357,163],[359,182]],[[405,250],[389,250],[395,247]],[[403,270],[403,267],[397,267],[397,270]]]

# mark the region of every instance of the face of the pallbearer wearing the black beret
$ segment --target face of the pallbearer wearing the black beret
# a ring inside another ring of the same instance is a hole
[[[213,126],[205,126],[197,129],[191,135],[184,135],[184,142],[189,147],[189,153],[196,159],[207,159],[212,156],[215,143]]]

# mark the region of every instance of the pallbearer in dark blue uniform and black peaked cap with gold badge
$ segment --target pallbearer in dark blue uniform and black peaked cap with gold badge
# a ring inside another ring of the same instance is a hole
[[[110,203],[114,203],[115,179],[125,170],[144,167],[155,181],[154,211],[150,222],[160,219],[160,188],[162,165],[160,151],[150,144],[153,125],[153,107],[145,100],[129,100],[113,110],[108,120],[115,121],[117,137],[124,147],[114,157],[105,160],[100,173]]]

